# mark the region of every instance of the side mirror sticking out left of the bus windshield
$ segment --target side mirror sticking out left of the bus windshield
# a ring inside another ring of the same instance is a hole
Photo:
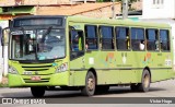
[[[10,28],[4,28],[2,31],[2,46],[7,46],[9,44]]]

